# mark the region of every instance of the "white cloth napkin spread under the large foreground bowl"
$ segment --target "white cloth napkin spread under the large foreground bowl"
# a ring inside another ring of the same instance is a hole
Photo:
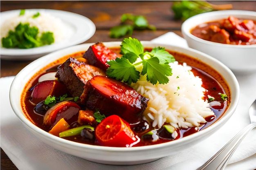
[[[175,33],[166,33],[153,41],[187,47],[186,41]],[[112,166],[55,150],[31,134],[15,116],[9,103],[9,88],[13,78],[0,79],[1,148],[19,170],[195,170],[250,123],[248,110],[256,98],[256,74],[237,76],[240,84],[238,108],[229,121],[209,138],[177,155],[157,161],[134,166]],[[256,169],[256,129],[249,132],[241,142],[225,168],[253,169]]]

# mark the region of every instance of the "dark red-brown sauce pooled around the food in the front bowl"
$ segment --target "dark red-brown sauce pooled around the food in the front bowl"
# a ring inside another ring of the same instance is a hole
[[[112,50],[115,51],[116,53],[119,53],[119,48],[113,48]],[[150,51],[150,49],[145,49],[145,50]],[[192,66],[191,71],[196,76],[199,76],[202,79],[203,87],[205,89],[208,89],[207,93],[205,93],[205,96],[210,95],[212,97],[215,97],[215,99],[217,101],[222,101],[222,99],[220,99],[220,95],[218,95],[218,93],[225,93],[228,96],[230,96],[229,86],[227,85],[225,80],[222,79],[220,74],[218,72],[216,72],[213,68],[211,68],[211,66],[204,64],[195,58],[191,58],[188,55],[184,55],[182,53],[177,53],[177,52],[173,52],[173,51],[169,51],[169,52],[180,63],[186,62],[188,65]],[[43,68],[42,71],[40,71],[36,75],[34,75],[34,77],[31,78],[30,82],[27,83],[27,86],[23,91],[22,101],[21,101],[23,110],[24,110],[24,113],[27,115],[27,118],[32,123],[34,123],[36,126],[38,126],[39,128],[41,128],[47,132],[49,131],[49,127],[45,127],[43,125],[43,115],[35,114],[35,112],[34,112],[35,106],[33,104],[31,104],[31,102],[29,102],[29,99],[31,96],[31,91],[29,91],[29,88],[31,88],[37,84],[38,77],[40,77],[40,75],[43,75],[43,74],[51,72],[51,71],[56,71],[57,66],[60,65],[61,63],[65,62],[65,60],[67,60],[67,58],[82,57],[83,53],[84,52],[79,52],[79,53],[74,53],[72,55],[67,55],[67,56],[61,58],[60,60],[57,60],[56,62],[49,64],[48,66]],[[204,70],[204,71],[202,71],[202,70]],[[213,78],[213,77],[215,77],[215,78]],[[211,109],[213,110],[215,115],[206,117],[205,119],[206,119],[207,123],[202,124],[202,126],[177,130],[177,137],[175,139],[171,139],[171,137],[168,136],[168,134],[165,136],[164,133],[162,133],[161,138],[159,138],[157,141],[152,142],[152,140],[147,139],[146,137],[144,137],[144,138],[142,137],[146,132],[153,130],[153,128],[150,124],[148,124],[145,121],[141,121],[141,122],[138,122],[137,124],[133,124],[133,125],[131,125],[131,129],[133,130],[135,135],[137,135],[141,139],[141,141],[138,144],[136,144],[135,146],[145,146],[145,145],[169,142],[169,141],[177,140],[182,137],[191,135],[195,132],[198,132],[199,130],[207,128],[208,126],[213,124],[216,120],[218,120],[221,117],[221,115],[227,109],[230,100],[231,99],[229,98],[229,100],[227,102],[222,102],[221,106],[212,107]],[[78,123],[76,122],[76,120],[77,119],[71,119],[71,120],[69,120],[68,123],[72,127],[79,126]],[[94,132],[84,130],[83,134],[84,134],[83,136],[76,135],[76,136],[72,136],[72,137],[65,137],[65,139],[84,143],[84,144],[99,145],[97,143],[97,140],[93,136]]]

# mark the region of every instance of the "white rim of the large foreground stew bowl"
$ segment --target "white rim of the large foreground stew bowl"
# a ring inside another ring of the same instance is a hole
[[[103,43],[108,47],[119,46],[121,44],[121,42],[103,42]],[[43,65],[41,67],[38,67],[38,65],[42,65],[42,63],[44,63],[44,62],[47,62],[49,64],[67,54],[71,54],[71,53],[78,52],[78,51],[83,51],[83,49],[86,50],[86,49],[88,49],[88,47],[90,45],[92,45],[94,43],[71,46],[67,49],[62,49],[62,50],[50,53],[48,55],[40,57],[37,60],[34,60],[30,64],[28,64],[25,68],[23,68],[14,78],[14,80],[11,84],[11,88],[10,88],[10,102],[11,102],[11,107],[12,107],[14,113],[16,114],[18,119],[20,119],[20,121],[22,121],[22,123],[24,123],[30,130],[33,130],[34,132],[37,132],[40,135],[43,135],[44,137],[46,137],[49,140],[54,140],[54,141],[58,142],[58,144],[60,144],[60,145],[65,145],[65,147],[70,146],[70,148],[72,148],[72,149],[73,149],[73,147],[76,147],[76,148],[79,147],[79,148],[86,148],[86,149],[90,149],[90,150],[104,150],[104,151],[115,151],[115,152],[132,152],[132,151],[140,151],[140,150],[150,150],[150,149],[156,149],[156,148],[162,148],[162,147],[170,147],[173,145],[181,146],[181,145],[184,145],[184,143],[185,144],[190,143],[191,141],[198,139],[198,137],[201,137],[201,136],[205,137],[207,135],[207,132],[209,132],[209,131],[211,132],[211,131],[214,131],[215,129],[219,129],[220,126],[222,126],[222,124],[224,124],[231,117],[231,115],[233,115],[234,111],[236,110],[236,106],[238,104],[240,90],[239,90],[239,84],[238,84],[238,81],[237,81],[235,75],[231,72],[231,70],[227,66],[225,66],[224,64],[222,64],[220,61],[216,60],[215,58],[213,58],[207,54],[204,54],[200,51],[191,49],[191,48],[184,49],[179,46],[160,44],[160,43],[154,43],[154,42],[148,42],[148,41],[141,41],[141,43],[145,47],[155,47],[155,46],[160,45],[160,46],[165,46],[166,49],[170,49],[170,50],[181,49],[184,51],[182,53],[185,53],[185,54],[188,54],[187,52],[190,52],[190,53],[197,54],[197,55],[203,55],[208,60],[210,60],[212,62],[216,62],[218,65],[220,65],[223,68],[223,70],[225,71],[225,74],[229,75],[229,77],[231,78],[232,84],[234,84],[233,88],[235,91],[231,92],[231,95],[232,95],[232,93],[236,94],[236,97],[234,99],[232,99],[232,102],[231,102],[228,110],[226,111],[228,113],[226,113],[225,115],[222,115],[221,119],[219,119],[218,121],[213,123],[211,126],[205,128],[204,130],[196,132],[196,133],[186,136],[184,138],[166,142],[166,143],[162,143],[162,144],[154,144],[154,145],[149,145],[149,146],[137,146],[137,147],[129,147],[129,148],[96,146],[96,145],[82,144],[82,143],[78,143],[78,142],[74,142],[74,141],[69,141],[69,140],[62,139],[60,137],[51,135],[50,133],[44,131],[43,129],[39,128],[38,126],[33,124],[31,121],[29,121],[29,119],[27,119],[26,116],[24,115],[24,113],[22,112],[22,107],[20,106],[20,97],[21,97],[21,93],[24,89],[24,86],[22,86],[22,88],[20,88],[21,82],[25,82],[25,83],[28,82],[28,80],[31,79],[31,77],[32,77],[31,75],[34,75],[37,71],[40,70],[40,68],[45,66],[45,65]],[[193,54],[191,55],[192,57],[194,56]],[[36,65],[36,64],[38,64],[38,65]],[[33,73],[31,72],[31,70],[33,70]],[[225,76],[227,76],[227,75],[225,75]],[[19,97],[17,97],[17,94],[19,95]]]

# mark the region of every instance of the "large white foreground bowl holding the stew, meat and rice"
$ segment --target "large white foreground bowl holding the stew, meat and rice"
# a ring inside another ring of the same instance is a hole
[[[120,46],[121,42],[105,42],[104,43],[108,47],[117,47]],[[92,44],[81,44],[77,46],[72,46],[67,49],[63,49],[60,51],[56,51],[44,57],[41,57],[34,62],[31,62],[28,66],[26,66],[18,75],[16,75],[13,83],[11,84],[10,89],[10,102],[11,107],[13,108],[14,113],[20,119],[22,124],[31,131],[36,137],[40,140],[68,154],[81,157],[83,159],[87,159],[89,161],[94,161],[97,163],[106,163],[106,164],[115,164],[115,165],[132,165],[132,164],[140,164],[147,163],[150,161],[157,160],[162,157],[166,157],[168,155],[175,154],[180,150],[184,150],[189,148],[198,142],[206,139],[211,134],[217,131],[225,122],[231,117],[234,113],[236,106],[238,104],[239,97],[239,85],[235,75],[231,72],[227,66],[219,62],[218,60],[201,53],[199,51],[195,51],[193,49],[183,49],[181,47],[164,45],[164,44],[155,44],[152,42],[142,42],[144,47],[157,47],[162,46],[166,49],[172,51],[178,51],[184,54],[189,54],[202,60],[205,63],[211,63],[213,68],[218,68],[218,72],[221,73],[223,78],[228,82],[230,91],[231,91],[231,103],[229,108],[225,112],[225,114],[216,121],[213,125],[208,128],[194,133],[193,135],[189,135],[182,139],[178,139],[175,141],[156,144],[151,146],[139,146],[139,147],[131,147],[131,148],[117,148],[117,147],[106,147],[106,146],[92,146],[88,144],[76,143],[74,141],[68,141],[66,139],[62,139],[56,137],[54,135],[45,132],[44,130],[38,128],[34,124],[29,121],[24,113],[22,112],[22,107],[20,104],[21,101],[21,93],[25,84],[29,81],[29,79],[41,68],[46,66],[47,64],[61,58],[67,54],[72,54],[78,51],[85,51]]]

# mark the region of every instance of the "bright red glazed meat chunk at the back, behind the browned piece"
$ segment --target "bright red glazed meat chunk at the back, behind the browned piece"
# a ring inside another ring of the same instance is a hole
[[[115,60],[117,54],[103,43],[98,42],[92,46],[84,53],[83,57],[88,61],[88,64],[99,67],[103,70],[107,70],[109,65],[108,60]]]

